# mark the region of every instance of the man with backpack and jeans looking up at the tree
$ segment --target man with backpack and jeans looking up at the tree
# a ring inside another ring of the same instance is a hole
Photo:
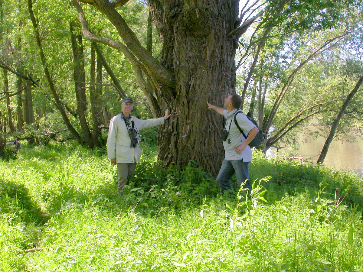
[[[246,117],[244,114],[238,114],[242,112],[240,110],[242,103],[241,96],[237,94],[230,94],[224,99],[224,108],[208,105],[208,110],[213,109],[218,114],[223,115],[227,119],[224,127],[223,147],[225,157],[222,162],[221,169],[217,176],[217,182],[222,190],[222,193],[226,190],[232,189],[230,182],[233,173],[237,176],[238,190],[241,185],[246,181],[245,188],[251,192],[251,184],[249,182],[249,162],[252,161],[252,151],[249,147],[249,143],[254,139],[258,133],[258,128]],[[234,123],[234,115],[236,115],[236,121],[245,135],[248,134],[245,139],[240,130]]]

